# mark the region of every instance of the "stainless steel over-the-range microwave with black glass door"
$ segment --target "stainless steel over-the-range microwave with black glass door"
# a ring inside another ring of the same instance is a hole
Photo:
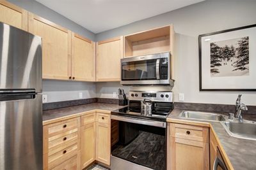
[[[122,85],[171,85],[169,52],[121,59]]]

